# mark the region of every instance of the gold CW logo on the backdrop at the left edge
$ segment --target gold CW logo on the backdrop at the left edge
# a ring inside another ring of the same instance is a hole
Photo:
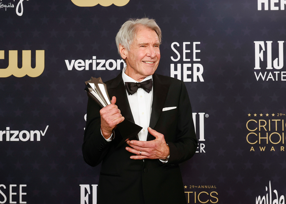
[[[0,60],[4,60],[4,50],[0,50]],[[0,69],[0,77],[37,77],[43,73],[44,68],[45,50],[36,50],[35,68],[31,67],[31,50],[22,50],[22,68],[18,68],[18,50],[9,50],[9,65],[6,69]]]

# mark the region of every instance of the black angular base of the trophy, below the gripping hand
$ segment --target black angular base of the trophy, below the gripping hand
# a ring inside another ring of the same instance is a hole
[[[142,130],[142,127],[128,120],[124,120],[123,122],[119,123],[117,128],[121,134],[121,137],[115,135],[114,142],[117,143],[115,148],[120,147],[126,140],[133,140],[140,130]]]

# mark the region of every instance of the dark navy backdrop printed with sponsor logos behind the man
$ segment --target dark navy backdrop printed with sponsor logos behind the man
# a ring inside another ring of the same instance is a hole
[[[1,0],[0,203],[92,203],[85,81],[117,76],[128,18],[162,29],[157,73],[184,81],[197,153],[188,203],[285,204],[285,0]],[[111,186],[112,196],[112,186]],[[156,192],[155,192],[156,193]]]

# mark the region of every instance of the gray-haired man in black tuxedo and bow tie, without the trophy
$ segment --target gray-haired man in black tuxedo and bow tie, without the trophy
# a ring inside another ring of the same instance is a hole
[[[82,147],[86,163],[102,161],[97,202],[186,203],[178,164],[194,155],[197,140],[184,83],[154,74],[161,29],[152,19],[130,19],[116,44],[126,67],[106,82],[110,105],[100,109],[88,100]],[[116,125],[124,119],[143,128],[116,148]]]

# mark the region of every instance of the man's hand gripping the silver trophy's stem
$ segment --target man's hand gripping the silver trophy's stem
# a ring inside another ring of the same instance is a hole
[[[101,132],[105,139],[108,139],[111,136],[112,130],[118,123],[124,121],[124,117],[121,115],[121,111],[115,105],[115,102],[116,97],[113,96],[111,104],[100,110]]]

